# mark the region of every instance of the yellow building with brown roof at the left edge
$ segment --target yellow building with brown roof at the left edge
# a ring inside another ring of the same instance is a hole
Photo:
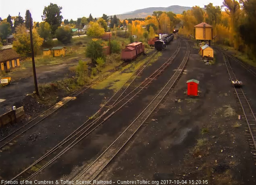
[[[20,56],[13,49],[0,50],[0,71],[10,71],[20,66]]]

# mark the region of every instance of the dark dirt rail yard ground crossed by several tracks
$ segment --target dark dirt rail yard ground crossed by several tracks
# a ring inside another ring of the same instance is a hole
[[[175,34],[142,56],[119,90],[96,86],[131,70],[127,62],[19,129],[3,129],[0,179],[255,185],[256,70],[223,52],[214,47],[205,65],[195,41]],[[191,79],[198,97],[187,96]]]

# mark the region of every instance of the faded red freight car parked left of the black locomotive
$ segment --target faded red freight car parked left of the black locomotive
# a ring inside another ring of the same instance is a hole
[[[122,60],[133,60],[139,54],[145,53],[144,44],[142,42],[134,42],[125,46],[121,52]]]

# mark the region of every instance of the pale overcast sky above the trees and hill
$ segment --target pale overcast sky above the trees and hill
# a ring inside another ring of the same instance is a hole
[[[149,7],[172,5],[204,7],[210,2],[214,6],[221,6],[223,0],[11,0],[11,2],[0,0],[0,17],[6,19],[9,14],[17,16],[20,12],[21,16],[25,18],[26,10],[30,10],[33,21],[42,22],[44,6],[48,6],[50,3],[62,7],[63,19],[75,21],[78,17],[88,17],[90,13],[93,17],[101,17],[102,14],[122,14]]]

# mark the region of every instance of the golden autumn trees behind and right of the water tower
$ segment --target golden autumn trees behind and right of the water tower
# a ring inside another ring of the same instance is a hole
[[[224,0],[222,6],[213,6],[212,3],[204,8],[194,6],[179,15],[183,22],[179,33],[194,35],[194,25],[204,21],[213,28],[214,42],[234,47],[255,61],[255,7],[256,0]]]

